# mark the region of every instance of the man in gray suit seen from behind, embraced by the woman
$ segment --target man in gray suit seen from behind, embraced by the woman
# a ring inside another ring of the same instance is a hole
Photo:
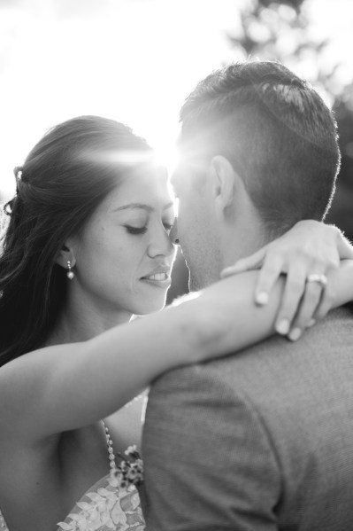
[[[173,185],[192,289],[326,215],[334,119],[284,66],[211,74],[180,119]],[[148,531],[353,529],[352,328],[339,308],[297,343],[276,336],[157,379],[142,445]]]

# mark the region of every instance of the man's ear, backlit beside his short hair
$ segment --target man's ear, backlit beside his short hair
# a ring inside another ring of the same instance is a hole
[[[234,204],[236,173],[226,157],[217,155],[211,160],[211,175],[216,217],[223,221],[226,211]]]

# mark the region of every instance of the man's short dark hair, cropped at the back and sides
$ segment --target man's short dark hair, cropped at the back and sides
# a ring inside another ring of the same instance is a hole
[[[324,219],[340,167],[336,123],[288,68],[248,61],[219,69],[188,96],[180,121],[181,148],[225,156],[273,234]]]

